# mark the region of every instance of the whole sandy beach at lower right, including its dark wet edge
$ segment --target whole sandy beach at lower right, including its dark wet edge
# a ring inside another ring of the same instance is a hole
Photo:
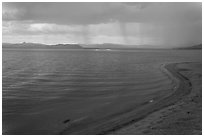
[[[109,134],[202,134],[202,64],[186,62],[167,65],[166,68],[180,79],[180,88],[175,91],[177,96],[171,96],[174,103]]]

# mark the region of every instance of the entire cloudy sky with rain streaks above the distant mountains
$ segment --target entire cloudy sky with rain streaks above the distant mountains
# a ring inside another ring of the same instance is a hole
[[[184,47],[202,43],[202,3],[6,3],[2,41]]]

